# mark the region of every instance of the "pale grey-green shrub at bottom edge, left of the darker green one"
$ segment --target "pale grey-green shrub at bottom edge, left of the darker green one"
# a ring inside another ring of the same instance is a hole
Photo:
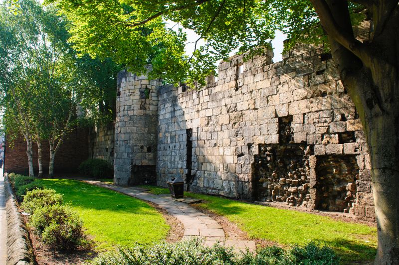
[[[200,240],[182,241],[176,244],[161,243],[150,248],[137,246],[118,252],[101,254],[94,259],[95,265],[232,265],[236,257],[231,248],[214,245],[204,247]]]

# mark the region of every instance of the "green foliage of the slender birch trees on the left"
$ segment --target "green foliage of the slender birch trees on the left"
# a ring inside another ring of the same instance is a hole
[[[100,121],[104,108],[111,117],[115,77],[112,61],[78,58],[68,39],[70,22],[54,5],[19,0],[17,14],[9,11],[13,0],[0,6],[0,92],[7,134],[62,139],[77,123],[80,104]]]

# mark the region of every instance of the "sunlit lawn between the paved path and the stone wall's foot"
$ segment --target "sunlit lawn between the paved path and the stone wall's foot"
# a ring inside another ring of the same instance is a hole
[[[169,192],[161,187],[146,188],[153,193]],[[283,245],[319,242],[333,248],[344,263],[373,260],[376,255],[377,230],[374,227],[216,196],[190,192],[185,195],[204,200],[200,207],[226,217],[252,239],[266,239]]]

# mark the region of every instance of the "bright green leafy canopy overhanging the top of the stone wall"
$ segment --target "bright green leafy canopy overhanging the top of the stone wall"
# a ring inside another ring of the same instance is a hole
[[[203,82],[215,63],[233,50],[263,53],[275,30],[288,34],[287,48],[298,42],[326,43],[309,0],[48,0],[73,22],[72,41],[82,53],[112,57],[133,72],[153,65],[152,77],[166,82]],[[350,3],[354,23],[364,18]],[[173,21],[167,26],[165,21]],[[205,44],[184,53],[193,29]]]

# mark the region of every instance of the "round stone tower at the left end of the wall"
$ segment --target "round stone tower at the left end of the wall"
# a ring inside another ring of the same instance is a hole
[[[151,66],[147,67],[150,71]],[[158,89],[160,80],[119,72],[115,121],[114,182],[156,183]]]

